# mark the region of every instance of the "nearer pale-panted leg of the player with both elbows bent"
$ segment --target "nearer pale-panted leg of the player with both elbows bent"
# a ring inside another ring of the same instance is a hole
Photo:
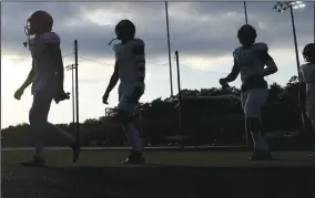
[[[248,93],[245,105],[246,121],[251,127],[254,142],[254,154],[252,159],[271,159],[266,136],[262,134],[262,107],[266,103],[267,94],[268,92],[266,88],[252,90]]]

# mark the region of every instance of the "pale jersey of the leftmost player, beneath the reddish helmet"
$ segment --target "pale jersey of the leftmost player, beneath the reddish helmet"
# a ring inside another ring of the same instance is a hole
[[[57,91],[57,70],[47,50],[49,43],[60,44],[60,37],[54,32],[45,32],[30,40],[34,70],[32,94],[38,91],[50,91],[50,93]]]

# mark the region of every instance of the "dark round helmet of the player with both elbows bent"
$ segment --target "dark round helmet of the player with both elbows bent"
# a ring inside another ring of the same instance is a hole
[[[237,31],[238,41],[244,46],[252,45],[255,42],[256,37],[256,30],[251,24],[244,24]]]

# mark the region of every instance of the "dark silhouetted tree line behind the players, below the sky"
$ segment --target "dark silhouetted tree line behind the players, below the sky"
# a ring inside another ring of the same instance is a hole
[[[294,132],[301,128],[298,107],[298,79],[291,77],[285,86],[270,85],[270,96],[264,111],[265,131]],[[215,96],[232,94],[240,96],[236,87],[182,90],[182,96]],[[222,145],[244,143],[244,114],[240,101],[182,102],[182,128],[179,127],[179,110],[174,108],[177,97],[155,98],[141,103],[136,117],[141,136],[150,145],[169,144],[167,137],[186,136],[186,144],[203,145],[219,142]],[[141,118],[141,121],[140,121]],[[75,134],[74,124],[59,124],[60,128]],[[29,124],[9,126],[1,131],[2,147],[32,146]],[[80,123],[80,139],[83,146],[125,146],[126,140],[118,119],[116,108],[98,119],[89,118]],[[47,146],[67,146],[61,137],[47,133]]]

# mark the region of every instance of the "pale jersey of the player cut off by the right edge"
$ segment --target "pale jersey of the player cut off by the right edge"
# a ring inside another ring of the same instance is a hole
[[[299,71],[302,81],[306,84],[306,112],[315,121],[315,64],[303,64]]]

